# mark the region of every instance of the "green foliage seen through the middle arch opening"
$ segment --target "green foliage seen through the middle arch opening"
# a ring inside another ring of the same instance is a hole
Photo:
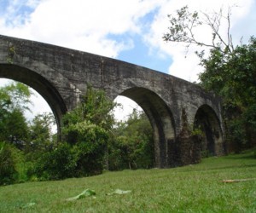
[[[154,167],[153,130],[145,113],[134,110],[114,130],[116,140],[108,147],[109,170]]]

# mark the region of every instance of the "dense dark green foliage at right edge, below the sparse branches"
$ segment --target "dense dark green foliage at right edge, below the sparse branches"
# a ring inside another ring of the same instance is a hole
[[[239,152],[256,145],[256,39],[237,46],[231,53],[212,49],[207,59],[201,58],[205,72],[201,84],[223,97],[228,139]],[[254,145],[253,145],[254,144]]]

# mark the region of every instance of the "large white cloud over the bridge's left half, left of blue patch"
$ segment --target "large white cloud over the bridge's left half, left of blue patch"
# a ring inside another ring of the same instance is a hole
[[[9,6],[8,15],[16,14],[16,2]],[[140,18],[160,5],[157,0],[24,2],[38,7],[26,17],[23,24],[18,23],[20,17],[15,18],[14,15],[11,15],[12,25],[3,26],[2,21],[0,33],[109,57],[117,57],[120,51],[131,49],[133,45],[131,40],[117,43],[108,35],[140,33],[143,27],[139,23]]]

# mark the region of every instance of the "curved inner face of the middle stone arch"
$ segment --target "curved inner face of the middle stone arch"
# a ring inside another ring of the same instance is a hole
[[[172,166],[175,153],[175,125],[172,112],[159,95],[149,89],[134,87],[119,95],[126,96],[143,108],[154,130],[154,158],[159,168]]]

